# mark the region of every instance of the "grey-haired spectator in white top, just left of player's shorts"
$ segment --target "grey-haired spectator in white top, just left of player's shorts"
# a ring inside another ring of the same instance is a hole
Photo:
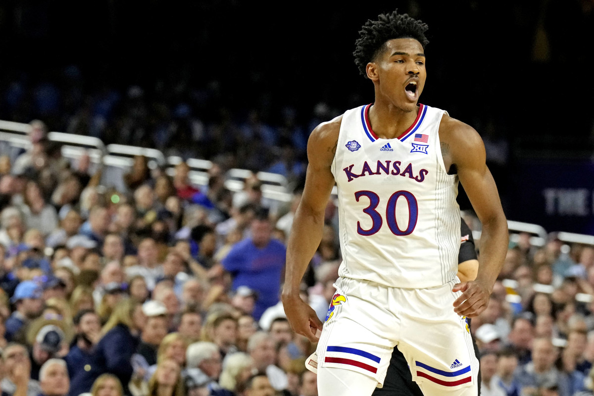
[[[276,349],[270,334],[266,331],[257,331],[249,337],[248,353],[254,359],[254,365],[258,372],[266,373],[274,389],[282,391],[287,388],[286,373],[274,365],[274,362],[276,362]]]

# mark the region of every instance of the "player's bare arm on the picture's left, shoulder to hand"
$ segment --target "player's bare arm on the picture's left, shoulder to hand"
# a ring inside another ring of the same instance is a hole
[[[334,186],[330,170],[340,131],[342,116],[318,125],[307,143],[308,167],[301,203],[295,212],[287,243],[283,307],[293,330],[317,342],[316,331],[322,322],[314,309],[299,297],[299,286],[315,254],[324,227],[324,213]]]

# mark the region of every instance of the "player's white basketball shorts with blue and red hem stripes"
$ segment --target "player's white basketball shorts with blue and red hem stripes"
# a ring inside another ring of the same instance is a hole
[[[462,294],[451,291],[456,283],[400,289],[339,278],[316,350],[318,370],[356,371],[381,388],[398,345],[413,381],[426,394],[477,387],[479,362],[467,321],[454,312],[454,300]]]

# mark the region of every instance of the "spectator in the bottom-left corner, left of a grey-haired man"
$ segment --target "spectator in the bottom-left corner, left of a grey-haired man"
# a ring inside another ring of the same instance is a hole
[[[27,349],[21,344],[10,343],[2,351],[5,377],[0,382],[2,393],[12,395],[17,387],[27,387],[27,396],[38,396],[42,389],[31,379],[31,361]]]

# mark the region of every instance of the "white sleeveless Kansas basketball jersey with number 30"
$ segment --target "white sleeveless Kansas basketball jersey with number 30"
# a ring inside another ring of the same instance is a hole
[[[438,129],[444,110],[421,104],[400,137],[371,129],[371,104],[347,110],[332,173],[339,201],[339,275],[423,289],[456,277],[457,175],[448,175]]]

